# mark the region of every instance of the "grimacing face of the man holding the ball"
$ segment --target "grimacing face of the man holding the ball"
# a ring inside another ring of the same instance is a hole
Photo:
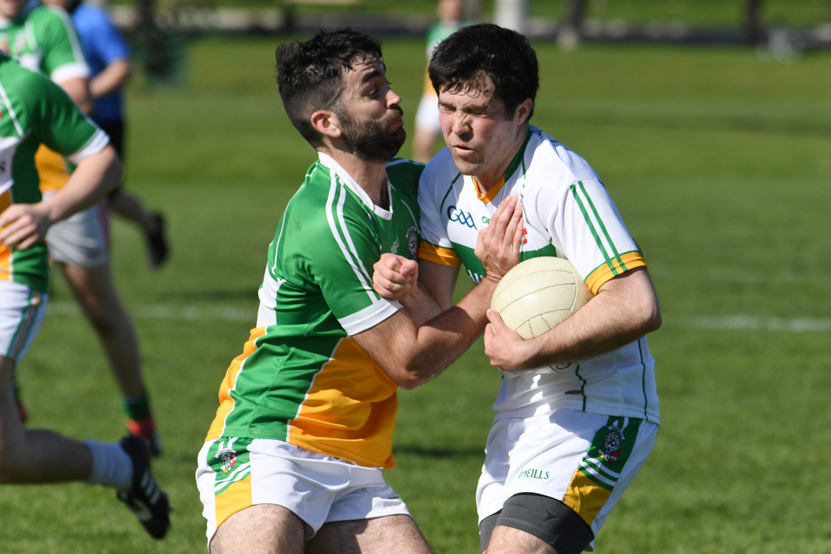
[[[524,128],[524,118],[509,117],[504,103],[494,98],[489,76],[459,91],[440,91],[439,120],[456,167],[465,175],[487,175],[507,166]]]

